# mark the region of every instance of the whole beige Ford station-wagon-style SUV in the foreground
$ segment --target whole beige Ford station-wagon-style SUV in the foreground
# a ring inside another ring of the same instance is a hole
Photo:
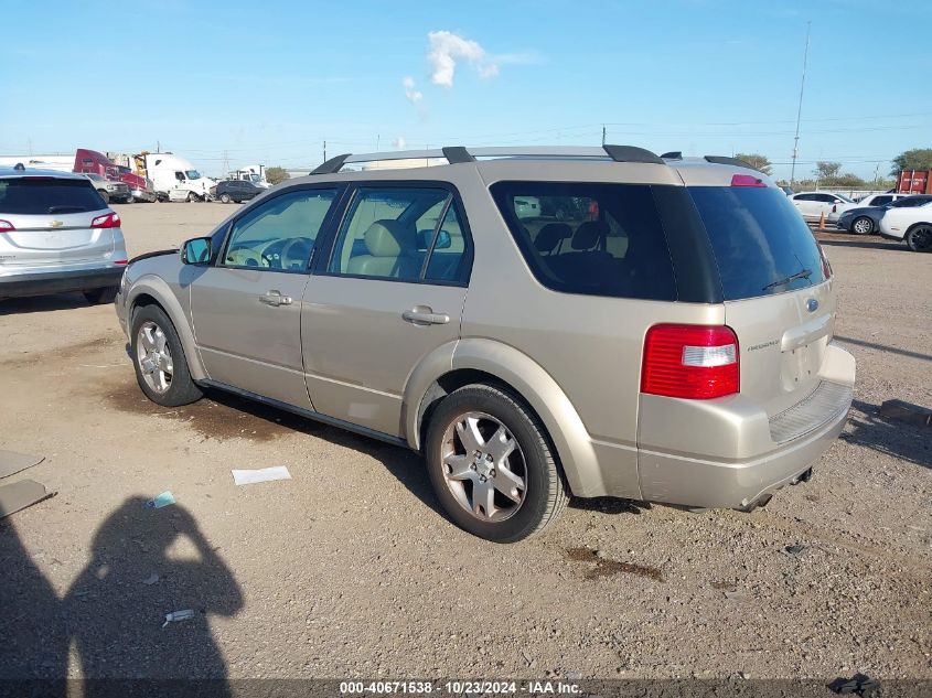
[[[764,504],[808,479],[855,379],[785,194],[631,147],[341,155],[131,264],[116,308],[153,401],[221,388],[418,450],[497,541],[569,494]]]

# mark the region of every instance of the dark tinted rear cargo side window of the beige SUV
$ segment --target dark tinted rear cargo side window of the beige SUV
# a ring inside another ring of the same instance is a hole
[[[651,187],[499,182],[491,187],[535,278],[565,293],[676,300]]]

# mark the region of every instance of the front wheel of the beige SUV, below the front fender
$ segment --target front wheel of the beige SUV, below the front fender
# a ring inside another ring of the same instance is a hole
[[[178,332],[158,305],[146,305],[133,314],[130,347],[136,380],[150,400],[178,407],[203,396],[191,377]]]

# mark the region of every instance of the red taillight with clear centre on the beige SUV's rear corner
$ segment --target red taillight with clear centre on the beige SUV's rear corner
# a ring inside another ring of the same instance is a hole
[[[654,325],[644,339],[641,391],[709,400],[740,389],[738,337],[725,325]]]

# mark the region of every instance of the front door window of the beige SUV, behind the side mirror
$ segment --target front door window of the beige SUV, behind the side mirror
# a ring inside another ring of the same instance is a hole
[[[306,271],[336,190],[299,190],[276,196],[238,218],[222,266]]]

